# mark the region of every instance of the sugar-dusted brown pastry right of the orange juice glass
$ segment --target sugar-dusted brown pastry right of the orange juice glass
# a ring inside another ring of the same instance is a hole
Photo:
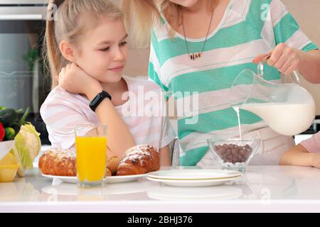
[[[127,150],[121,160],[117,176],[142,175],[160,169],[160,155],[150,145],[137,145]]]

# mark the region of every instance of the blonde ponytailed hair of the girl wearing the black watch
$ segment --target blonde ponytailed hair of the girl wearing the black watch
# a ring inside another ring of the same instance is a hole
[[[84,16],[90,21],[85,21]],[[59,50],[59,43],[68,40],[78,44],[85,30],[94,27],[101,16],[122,19],[122,12],[107,0],[50,0],[43,57],[50,70],[51,89],[58,84],[55,75],[68,64]]]

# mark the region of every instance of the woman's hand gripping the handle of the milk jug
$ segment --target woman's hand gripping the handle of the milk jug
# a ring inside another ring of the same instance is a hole
[[[283,74],[291,74],[299,69],[299,65],[302,62],[301,52],[301,50],[290,48],[288,45],[280,43],[272,52],[255,57],[253,62],[258,64],[264,57],[271,54],[267,60],[267,64],[275,67]]]

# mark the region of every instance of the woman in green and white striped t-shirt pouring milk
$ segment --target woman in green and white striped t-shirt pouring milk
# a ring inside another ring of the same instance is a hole
[[[253,62],[265,53],[272,53],[268,81],[299,70],[309,82],[320,82],[320,52],[279,0],[124,0],[122,7],[127,21],[135,16],[138,44],[152,27],[149,78],[177,102],[198,99],[194,111],[178,114],[181,165],[214,165],[206,140],[239,136],[228,92],[242,70],[256,72]],[[188,123],[195,116],[198,121]],[[242,135],[262,140],[251,164],[278,165],[294,146],[292,137],[275,133],[254,114],[240,111],[240,117]]]

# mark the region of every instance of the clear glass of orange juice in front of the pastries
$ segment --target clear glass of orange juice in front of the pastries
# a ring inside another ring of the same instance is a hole
[[[78,187],[102,187],[106,170],[107,126],[75,126]]]

